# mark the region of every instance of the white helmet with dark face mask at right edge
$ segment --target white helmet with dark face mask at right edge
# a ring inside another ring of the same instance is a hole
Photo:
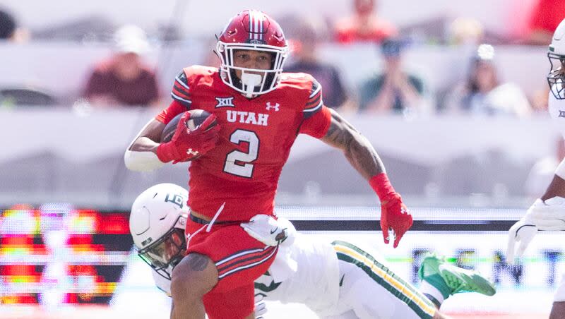
[[[552,44],[547,52],[551,69],[547,75],[549,90],[557,100],[565,99],[565,19],[553,33]]]

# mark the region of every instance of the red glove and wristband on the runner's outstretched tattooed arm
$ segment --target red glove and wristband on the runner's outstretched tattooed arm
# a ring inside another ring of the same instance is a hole
[[[405,232],[412,227],[412,215],[402,203],[400,195],[394,191],[386,173],[373,176],[369,184],[381,200],[381,229],[384,243],[388,243],[388,230],[392,229],[396,235],[393,247],[396,248]]]

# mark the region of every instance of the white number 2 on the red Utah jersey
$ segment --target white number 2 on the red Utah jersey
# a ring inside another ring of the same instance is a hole
[[[224,171],[229,174],[251,178],[254,168],[254,164],[251,164],[251,162],[257,159],[259,152],[259,138],[257,134],[252,131],[238,129],[230,136],[230,142],[237,145],[248,143],[249,148],[247,152],[232,150],[232,152],[227,153]]]

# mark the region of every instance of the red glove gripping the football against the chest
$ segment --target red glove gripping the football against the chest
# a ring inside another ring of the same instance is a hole
[[[186,121],[189,119],[190,112],[186,112],[181,117],[172,139],[157,147],[157,157],[161,162],[174,161],[172,164],[186,162],[201,157],[218,143],[220,126],[210,127],[210,124],[216,119],[214,114],[208,116],[202,124],[192,131],[186,127]]]

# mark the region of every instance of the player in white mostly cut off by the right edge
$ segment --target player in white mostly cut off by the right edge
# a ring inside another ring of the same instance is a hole
[[[565,20],[559,23],[547,52],[551,70],[547,75],[549,83],[548,108],[554,122],[565,137]],[[514,263],[532,241],[537,230],[565,230],[565,159],[555,170],[555,176],[542,197],[535,200],[522,217],[509,230],[506,259]],[[518,243],[518,245],[516,245]],[[565,274],[554,295],[550,319],[565,318]]]

